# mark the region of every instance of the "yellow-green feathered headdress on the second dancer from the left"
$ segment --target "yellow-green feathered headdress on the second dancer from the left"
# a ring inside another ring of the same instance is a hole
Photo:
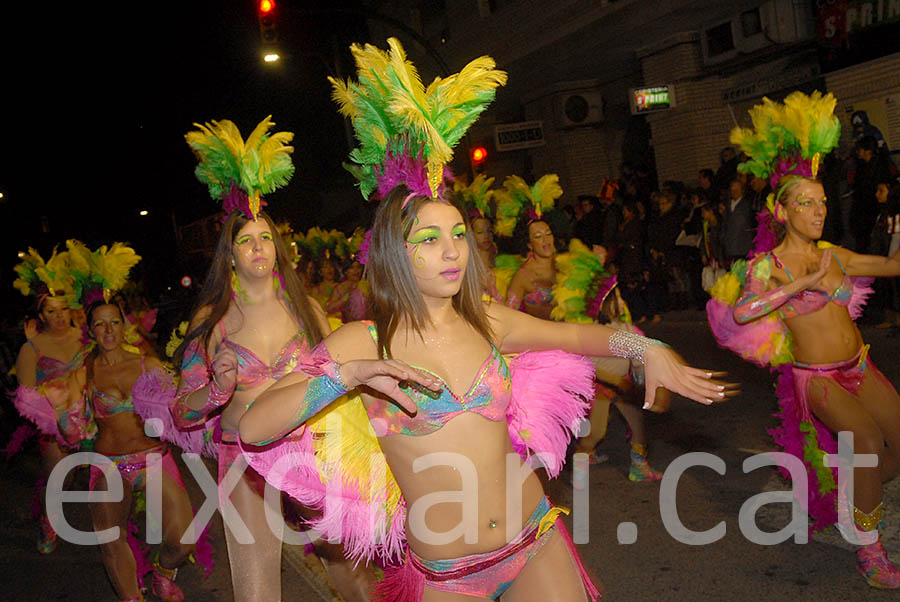
[[[100,300],[108,303],[125,286],[131,268],[141,260],[134,249],[122,242],[91,251],[81,241],[70,239],[66,247],[75,307],[87,307]]]

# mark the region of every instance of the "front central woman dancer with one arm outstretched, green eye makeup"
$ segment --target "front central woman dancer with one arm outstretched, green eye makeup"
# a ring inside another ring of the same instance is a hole
[[[420,82],[410,73],[399,43],[394,39],[389,43],[390,54],[371,46],[352,47],[360,79]],[[370,76],[364,65],[386,73]],[[474,97],[487,104],[493,89],[505,81],[505,74],[494,71],[487,57],[463,72],[465,78],[432,83],[429,98],[420,83],[419,87],[412,83],[412,91],[392,92],[424,99],[434,113],[442,114],[447,107],[441,102]],[[365,86],[368,82],[353,84],[354,90],[365,88],[355,94],[369,94],[369,101],[373,96],[383,98],[382,92]],[[465,86],[467,94],[455,87],[458,82],[463,82],[458,85]],[[353,115],[354,94],[340,96],[350,105],[344,110]],[[400,104],[397,100],[390,106]],[[391,111],[387,105],[382,101],[379,106]],[[415,119],[428,117],[417,113]],[[588,355],[624,355],[628,347],[627,355],[645,360],[650,390],[670,386],[710,403],[728,394],[726,385],[712,380],[709,372],[685,366],[667,347],[649,339],[596,324],[538,320],[483,302],[483,266],[471,229],[457,207],[442,197],[443,161],[449,160],[449,152],[435,150],[417,157],[422,147],[415,136],[422,130],[403,129],[408,122],[401,116],[393,115],[392,120],[388,126],[392,129],[382,132],[387,148],[377,150],[387,152],[386,163],[397,159],[410,169],[402,183],[391,169],[374,170],[385,174],[381,184],[390,186],[375,216],[367,261],[375,323],[348,324],[329,335],[314,351],[308,370],[314,373],[317,368],[319,376],[307,380],[296,373],[273,385],[244,414],[241,438],[258,444],[277,439],[347,390],[359,389],[387,465],[410,509],[406,562],[388,572],[382,594],[397,600],[451,600],[458,594],[491,598],[503,594],[509,600],[595,599],[598,592],[586,580],[574,546],[556,520],[561,509],[552,508],[533,473],[528,471],[523,479],[525,472],[515,472],[522,468],[520,460],[511,467],[514,474],[506,475],[508,459],[518,456],[513,455],[506,424],[510,373],[501,354],[565,348]],[[366,124],[354,125],[359,131]],[[455,125],[451,121],[435,127],[445,144],[447,130],[453,131]],[[407,138],[394,144],[400,131]],[[364,150],[372,151],[365,145]],[[404,157],[394,154],[398,149],[404,149],[400,151]],[[354,151],[354,156],[366,155]],[[418,367],[411,367],[413,363]],[[540,428],[528,436],[540,437]],[[445,452],[445,459],[430,462],[435,460],[429,456],[433,452]],[[453,459],[452,466],[446,456]],[[434,503],[439,492],[460,491],[460,485],[463,491],[452,503],[446,498]],[[432,504],[435,511],[422,509]]]

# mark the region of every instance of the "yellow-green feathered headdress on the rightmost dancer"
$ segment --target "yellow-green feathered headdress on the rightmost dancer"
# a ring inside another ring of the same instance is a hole
[[[788,174],[815,177],[822,156],[841,136],[836,102],[831,93],[821,92],[792,92],[784,104],[763,98],[763,104],[749,111],[753,128],[731,130],[731,143],[750,157],[738,169],[767,178],[773,189]]]

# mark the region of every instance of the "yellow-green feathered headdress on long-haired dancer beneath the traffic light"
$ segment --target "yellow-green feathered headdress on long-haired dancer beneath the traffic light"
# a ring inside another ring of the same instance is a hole
[[[234,123],[227,119],[206,125],[194,124],[199,131],[185,135],[188,145],[200,160],[194,173],[209,186],[209,194],[222,200],[225,217],[235,209],[256,220],[265,206],[261,195],[286,185],[294,174],[288,143],[291,132],[269,134],[272,116],[263,119],[246,142]]]

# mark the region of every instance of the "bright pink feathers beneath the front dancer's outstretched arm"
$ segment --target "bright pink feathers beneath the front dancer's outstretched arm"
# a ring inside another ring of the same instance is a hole
[[[569,441],[590,411],[594,364],[563,351],[526,351],[509,361],[512,395],[506,410],[513,448],[541,454],[547,474],[559,474]]]

